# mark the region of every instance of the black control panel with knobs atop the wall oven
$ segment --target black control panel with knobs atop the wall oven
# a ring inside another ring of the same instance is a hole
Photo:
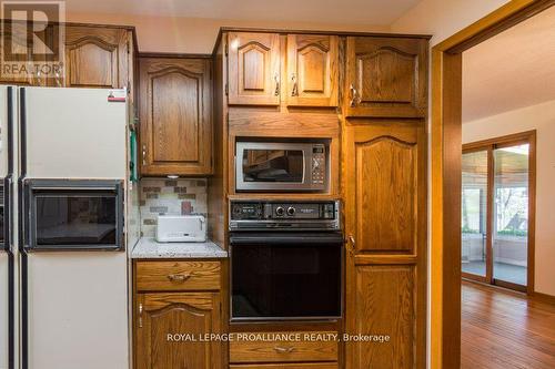
[[[230,229],[340,229],[340,202],[232,201]]]

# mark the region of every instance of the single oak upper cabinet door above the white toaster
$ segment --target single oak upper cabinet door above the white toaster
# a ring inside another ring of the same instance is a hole
[[[141,58],[143,175],[211,174],[210,60]]]

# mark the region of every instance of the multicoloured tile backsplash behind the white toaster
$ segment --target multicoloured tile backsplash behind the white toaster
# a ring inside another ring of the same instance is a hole
[[[141,235],[154,237],[159,214],[206,216],[205,178],[142,178],[140,183]]]

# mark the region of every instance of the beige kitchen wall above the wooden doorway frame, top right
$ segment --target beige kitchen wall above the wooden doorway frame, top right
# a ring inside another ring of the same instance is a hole
[[[391,24],[396,33],[433,34],[432,45],[487,16],[508,0],[423,0]]]

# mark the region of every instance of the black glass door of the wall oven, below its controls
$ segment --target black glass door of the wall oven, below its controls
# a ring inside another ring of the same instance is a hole
[[[232,237],[232,320],[340,317],[342,237],[321,235]]]

